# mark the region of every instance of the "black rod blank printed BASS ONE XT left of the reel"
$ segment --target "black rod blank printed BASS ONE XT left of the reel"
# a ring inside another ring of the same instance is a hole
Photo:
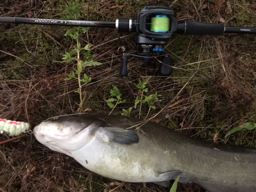
[[[0,17],[0,23],[116,28],[116,22],[95,22],[88,20],[64,20],[22,17]]]

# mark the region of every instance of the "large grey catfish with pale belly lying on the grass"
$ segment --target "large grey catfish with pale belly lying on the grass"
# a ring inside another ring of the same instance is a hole
[[[256,191],[256,148],[217,145],[139,119],[84,114],[49,118],[36,139],[101,176],[125,182],[197,183],[208,191]],[[132,129],[129,127],[134,126]]]

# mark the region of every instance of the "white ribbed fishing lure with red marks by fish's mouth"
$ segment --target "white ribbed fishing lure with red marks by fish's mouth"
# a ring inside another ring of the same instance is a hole
[[[27,122],[11,121],[0,119],[0,134],[8,134],[9,136],[19,136],[30,130],[30,124]]]

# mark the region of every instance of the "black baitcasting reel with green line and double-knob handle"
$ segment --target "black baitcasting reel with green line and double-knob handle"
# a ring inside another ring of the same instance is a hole
[[[149,6],[142,9],[135,20],[136,44],[140,47],[138,55],[123,54],[121,58],[120,76],[126,77],[127,56],[137,56],[145,62],[155,57],[162,57],[160,73],[162,76],[169,76],[172,72],[171,59],[164,55],[163,46],[175,35],[178,27],[178,20],[173,9],[165,6]]]

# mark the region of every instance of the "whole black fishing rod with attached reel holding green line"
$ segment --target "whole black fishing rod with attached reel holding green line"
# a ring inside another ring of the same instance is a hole
[[[223,24],[202,23],[192,20],[178,23],[176,12],[166,6],[147,6],[138,13],[137,18],[118,18],[115,22],[0,17],[0,23],[101,27],[116,28],[118,32],[136,32],[135,42],[140,47],[140,51],[138,54],[123,53],[120,68],[121,77],[127,77],[128,75],[128,56],[140,57],[145,62],[161,57],[160,73],[163,76],[169,76],[172,72],[172,61],[167,54],[163,54],[164,45],[176,33],[183,35],[256,34],[256,28],[249,27],[227,27]]]

